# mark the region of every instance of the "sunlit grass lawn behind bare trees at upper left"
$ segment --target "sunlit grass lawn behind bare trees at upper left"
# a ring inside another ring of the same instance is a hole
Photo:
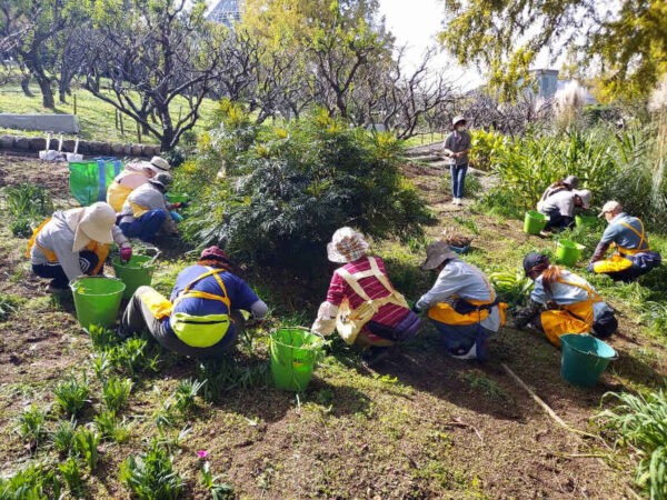
[[[86,140],[96,140],[103,142],[137,142],[137,124],[127,116],[123,116],[123,132],[120,131],[120,126],[117,127],[116,109],[113,106],[103,102],[96,98],[90,92],[83,89],[76,89],[71,97],[68,97],[67,104],[57,102],[56,110],[46,109],[41,106],[41,94],[37,86],[31,87],[34,97],[27,97],[19,86],[6,86],[0,91],[0,112],[2,113],[73,113],[74,97],[77,100],[77,116],[81,121],[80,138]],[[175,119],[178,118],[182,106],[182,111],[187,109],[183,99],[175,99],[171,113]],[[210,117],[215,102],[207,99],[200,108],[200,120],[195,127],[197,132],[201,131]],[[0,128],[0,134],[21,134],[21,136],[43,136],[41,131],[26,131],[14,129]],[[72,138],[72,136],[67,136]],[[152,136],[142,136],[142,143],[158,143],[159,141]]]

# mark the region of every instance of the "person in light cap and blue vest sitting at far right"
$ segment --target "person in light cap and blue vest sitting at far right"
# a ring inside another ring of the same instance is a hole
[[[608,274],[615,281],[634,281],[660,266],[663,258],[650,251],[644,222],[624,212],[618,201],[607,201],[599,217],[609,226],[593,253],[589,271]],[[617,251],[605,259],[613,244]]]

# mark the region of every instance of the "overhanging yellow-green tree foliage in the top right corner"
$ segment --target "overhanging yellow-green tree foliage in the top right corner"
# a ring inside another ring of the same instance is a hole
[[[665,0],[444,0],[441,42],[460,63],[488,69],[506,99],[542,50],[569,52],[611,96],[646,96],[667,72]]]

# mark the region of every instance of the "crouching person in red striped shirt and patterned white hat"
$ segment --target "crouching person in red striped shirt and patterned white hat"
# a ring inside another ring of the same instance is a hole
[[[364,362],[371,366],[388,356],[389,347],[412,339],[420,320],[394,289],[382,260],[367,251],[364,236],[354,229],[334,233],[328,258],[345,266],[334,272],[311,330],[328,336],[337,329],[348,344],[364,348]]]

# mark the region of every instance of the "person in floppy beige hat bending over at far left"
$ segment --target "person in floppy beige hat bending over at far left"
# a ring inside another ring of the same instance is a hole
[[[32,272],[50,278],[48,290],[57,293],[74,278],[101,274],[112,242],[120,247],[120,258],[130,260],[132,248],[115,223],[116,211],[104,202],[58,210],[28,242]]]

